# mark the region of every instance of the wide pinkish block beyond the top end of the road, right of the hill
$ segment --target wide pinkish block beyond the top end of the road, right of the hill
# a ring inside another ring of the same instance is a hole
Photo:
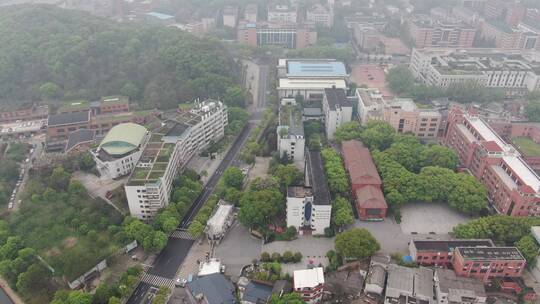
[[[251,46],[275,45],[287,49],[301,49],[317,43],[317,32],[303,26],[274,23],[241,23],[238,42]]]

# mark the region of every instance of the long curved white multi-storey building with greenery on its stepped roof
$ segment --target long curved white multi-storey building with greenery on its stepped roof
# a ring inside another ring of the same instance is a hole
[[[225,105],[208,100],[154,132],[124,186],[131,216],[150,220],[167,206],[173,179],[193,155],[224,136],[227,121]]]

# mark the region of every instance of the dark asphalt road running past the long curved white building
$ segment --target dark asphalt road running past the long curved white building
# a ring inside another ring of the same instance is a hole
[[[229,166],[231,166],[231,164],[233,164],[236,156],[238,155],[241,148],[244,146],[244,143],[248,139],[251,130],[256,125],[254,121],[261,119],[264,113],[263,107],[266,104],[267,97],[266,90],[268,86],[268,67],[261,66],[260,72],[259,103],[257,105],[257,109],[253,110],[250,122],[246,124],[244,129],[242,129],[240,135],[237,136],[232,147],[229,149],[214,174],[208,180],[206,186],[203,189],[203,192],[199,195],[199,197],[195,200],[195,202],[191,205],[190,209],[187,211],[186,215],[182,219],[182,222],[178,226],[178,229],[187,229],[193,218],[197,215],[199,209],[204,205],[204,203],[208,200],[208,198],[214,191],[214,188],[217,185],[225,169],[227,169]],[[193,243],[193,240],[169,237],[167,246],[165,246],[165,248],[160,252],[153,266],[148,270],[147,273],[150,275],[174,280],[176,272],[182,265],[182,262],[189,253],[189,249],[191,248]],[[156,286],[141,281],[131,294],[126,304],[139,304],[149,302],[150,300],[148,298],[145,298],[145,295],[152,287]]]

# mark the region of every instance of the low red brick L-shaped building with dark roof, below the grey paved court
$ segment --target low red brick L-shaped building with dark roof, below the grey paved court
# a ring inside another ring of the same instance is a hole
[[[411,240],[409,254],[413,261],[425,266],[445,266],[452,264],[452,256],[457,247],[493,247],[491,240]]]

